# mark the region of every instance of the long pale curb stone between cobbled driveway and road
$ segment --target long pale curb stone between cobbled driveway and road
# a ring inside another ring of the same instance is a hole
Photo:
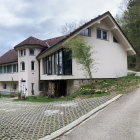
[[[69,130],[71,130],[72,128],[74,128],[75,126],[77,126],[78,124],[80,124],[81,122],[83,122],[84,120],[89,118],[90,116],[92,116],[94,113],[96,113],[99,110],[103,109],[104,107],[106,107],[107,105],[109,105],[113,101],[117,100],[121,96],[122,96],[122,94],[119,94],[119,95],[115,96],[114,98],[112,98],[109,101],[105,102],[104,104],[101,104],[100,106],[94,108],[93,110],[91,110],[87,114],[81,116],[80,118],[78,118],[77,120],[75,120],[72,123],[68,124],[67,126],[65,126],[63,128],[60,128],[59,130],[57,130],[57,131],[51,133],[50,135],[47,135],[47,136],[45,136],[45,137],[43,137],[43,138],[41,138],[39,140],[53,140],[53,139],[61,136],[62,134],[68,132]]]

